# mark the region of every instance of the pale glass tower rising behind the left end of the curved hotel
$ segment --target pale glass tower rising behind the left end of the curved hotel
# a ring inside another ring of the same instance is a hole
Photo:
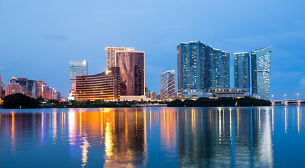
[[[88,62],[83,61],[70,61],[70,83],[72,83],[72,89],[75,90],[76,76],[88,75]]]

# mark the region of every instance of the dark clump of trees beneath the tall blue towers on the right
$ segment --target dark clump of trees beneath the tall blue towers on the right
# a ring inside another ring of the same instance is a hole
[[[172,102],[167,102],[168,107],[208,107],[208,106],[271,106],[271,102],[264,99],[255,99],[252,97],[244,97],[234,99],[223,97],[218,99],[199,98],[196,100],[186,99],[184,101],[175,99]]]

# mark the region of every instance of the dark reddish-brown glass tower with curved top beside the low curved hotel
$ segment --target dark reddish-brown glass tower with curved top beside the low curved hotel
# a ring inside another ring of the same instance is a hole
[[[116,66],[120,69],[120,95],[145,95],[145,52],[136,50],[116,51]]]

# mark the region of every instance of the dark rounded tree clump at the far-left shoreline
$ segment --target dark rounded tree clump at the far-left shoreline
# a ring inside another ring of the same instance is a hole
[[[4,97],[4,109],[36,109],[39,102],[25,94],[16,93]]]

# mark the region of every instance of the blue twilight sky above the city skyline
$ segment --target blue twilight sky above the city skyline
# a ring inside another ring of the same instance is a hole
[[[146,52],[146,83],[177,70],[177,44],[201,40],[230,52],[273,46],[274,99],[305,97],[305,1],[0,1],[0,73],[45,80],[67,96],[69,60],[106,70],[107,46]]]

